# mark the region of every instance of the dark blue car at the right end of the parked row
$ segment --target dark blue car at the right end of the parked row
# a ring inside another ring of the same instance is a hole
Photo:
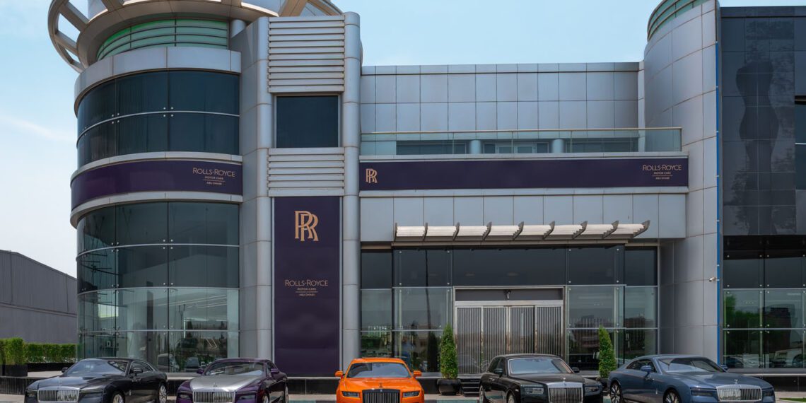
[[[647,355],[610,372],[613,403],[775,402],[772,385],[694,355]]]

